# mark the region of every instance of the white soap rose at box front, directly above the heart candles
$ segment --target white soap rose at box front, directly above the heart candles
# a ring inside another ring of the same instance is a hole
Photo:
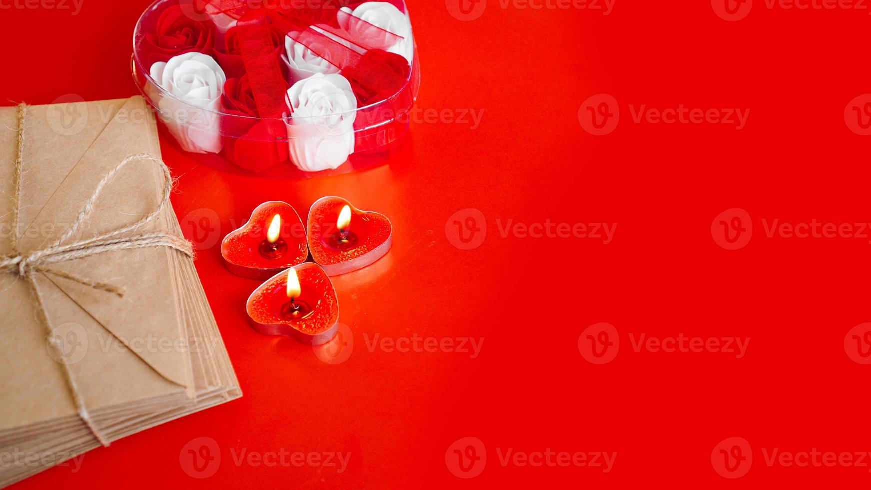
[[[332,170],[354,153],[357,98],[348,79],[317,73],[287,91],[290,158],[301,171]]]

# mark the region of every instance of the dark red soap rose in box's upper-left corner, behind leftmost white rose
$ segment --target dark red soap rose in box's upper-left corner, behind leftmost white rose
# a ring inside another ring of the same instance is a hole
[[[145,33],[139,50],[145,57],[146,68],[159,61],[196,51],[212,56],[215,24],[200,22],[185,15],[179,5],[172,5],[158,18],[152,32]]]

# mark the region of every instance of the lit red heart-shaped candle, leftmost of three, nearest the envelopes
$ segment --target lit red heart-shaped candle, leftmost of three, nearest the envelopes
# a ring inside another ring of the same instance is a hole
[[[308,258],[306,229],[291,205],[270,201],[220,245],[226,268],[250,279],[269,279]]]

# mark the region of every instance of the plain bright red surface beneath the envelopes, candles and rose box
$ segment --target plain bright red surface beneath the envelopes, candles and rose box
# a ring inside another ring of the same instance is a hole
[[[131,36],[147,4],[84,0],[78,16],[0,12],[4,103],[136,93]],[[844,117],[871,91],[868,10],[757,0],[748,17],[726,22],[706,1],[617,0],[604,16],[490,0],[483,17],[463,22],[442,1],[408,6],[422,62],[418,107],[483,111],[480,127],[413,123],[389,166],[304,181],[214,171],[162,134],[179,177],[175,211],[183,221],[214,211],[209,237],[270,199],[304,217],[315,199],[340,195],[393,220],[388,257],[335,281],[350,357],[328,365],[292,339],[253,332],[244,303],[257,283],[226,272],[219,246],[207,247],[197,268],[244,398],[88,453],[78,473],[57,467],[17,488],[867,485],[868,467],[769,466],[763,451],[871,450],[871,367],[844,348],[847,332],[871,320],[869,238],[768,238],[762,220],[871,220],[868,139]],[[600,93],[618,100],[621,119],[611,134],[592,136],[578,113]],[[641,104],[751,113],[741,131],[636,124],[629,106]],[[465,208],[488,225],[470,251],[446,235],[449,217]],[[737,251],[711,231],[729,208],[753,217],[753,239]],[[609,245],[503,238],[498,223],[509,219],[618,228]],[[615,326],[621,344],[602,366],[578,350],[581,332],[598,322]],[[635,352],[629,335],[641,333],[751,341],[743,359]],[[470,359],[369,349],[375,334],[484,343]],[[712,467],[714,447],[733,436],[753,447],[740,480]],[[213,438],[222,458],[205,480],[179,465],[198,437]],[[445,462],[463,437],[482,440],[488,455],[470,480]],[[610,473],[503,467],[496,450],[510,447],[618,457]],[[337,473],[237,466],[232,452],[243,449],[352,455]]]

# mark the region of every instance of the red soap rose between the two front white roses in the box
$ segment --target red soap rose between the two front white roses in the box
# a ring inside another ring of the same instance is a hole
[[[287,127],[281,121],[263,120],[257,111],[248,76],[224,84],[221,134],[226,158],[254,172],[287,160]]]

